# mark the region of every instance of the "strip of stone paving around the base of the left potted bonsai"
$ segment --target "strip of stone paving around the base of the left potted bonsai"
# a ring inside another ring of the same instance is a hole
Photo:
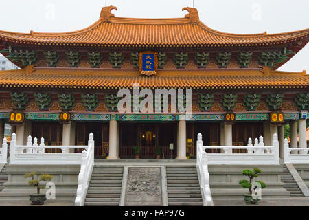
[[[29,200],[0,200],[0,206],[32,206]],[[73,201],[68,200],[46,200],[42,206],[73,206]]]

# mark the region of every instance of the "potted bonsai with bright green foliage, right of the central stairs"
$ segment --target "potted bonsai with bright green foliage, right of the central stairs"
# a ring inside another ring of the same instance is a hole
[[[258,201],[260,199],[255,199],[252,197],[252,191],[255,190],[258,186],[255,186],[255,188],[252,188],[252,180],[255,177],[258,177],[258,173],[261,173],[261,170],[259,168],[253,168],[253,170],[242,170],[242,175],[245,175],[249,177],[249,181],[247,179],[242,179],[239,181],[239,184],[242,186],[242,188],[248,188],[249,194],[244,195],[244,201],[246,201],[247,204],[258,204]],[[266,184],[262,181],[256,181],[261,185],[261,188],[265,188]]]

